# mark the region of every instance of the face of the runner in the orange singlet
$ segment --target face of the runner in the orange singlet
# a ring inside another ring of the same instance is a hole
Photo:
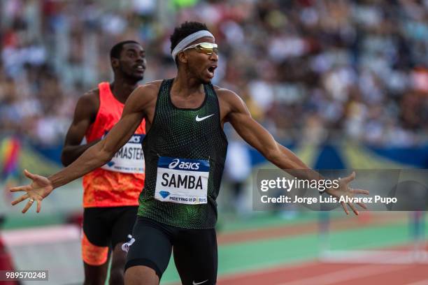
[[[144,78],[145,50],[136,43],[127,43],[120,52],[120,71],[129,78],[140,81]]]

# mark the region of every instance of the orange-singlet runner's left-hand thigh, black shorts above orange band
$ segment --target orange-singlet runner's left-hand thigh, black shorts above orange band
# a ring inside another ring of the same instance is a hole
[[[82,258],[85,263],[100,266],[108,260],[111,225],[106,208],[85,208],[83,212]]]

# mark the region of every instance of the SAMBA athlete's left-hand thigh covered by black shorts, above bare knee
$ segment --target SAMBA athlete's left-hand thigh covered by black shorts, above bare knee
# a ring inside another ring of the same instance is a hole
[[[129,246],[125,270],[143,265],[155,270],[161,279],[172,251],[171,232],[168,227],[151,219],[137,217],[132,237],[135,241]]]

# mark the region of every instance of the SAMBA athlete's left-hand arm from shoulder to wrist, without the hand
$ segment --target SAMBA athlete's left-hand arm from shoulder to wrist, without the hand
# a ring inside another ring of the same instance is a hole
[[[141,124],[141,120],[145,117],[145,108],[152,104],[152,94],[152,88],[145,86],[132,92],[125,103],[122,117],[108,132],[106,138],[86,149],[69,166],[48,177],[53,189],[67,184],[110,161],[115,152],[131,138],[138,125]]]

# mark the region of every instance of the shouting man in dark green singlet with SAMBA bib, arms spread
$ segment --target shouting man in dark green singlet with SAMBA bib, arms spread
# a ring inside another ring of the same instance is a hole
[[[223,126],[237,133],[278,168],[301,179],[321,179],[318,173],[281,146],[250,116],[234,92],[211,85],[217,68],[217,45],[205,24],[185,22],[171,36],[171,55],[178,66],[176,78],[150,82],[129,96],[122,118],[101,142],[87,149],[70,166],[49,178],[25,171],[33,182],[11,191],[25,191],[13,205],[41,200],[55,188],[110,160],[146,121],[143,140],[145,188],[140,195],[135,238],[127,255],[125,284],[159,284],[171,251],[183,284],[215,284],[217,242],[215,199],[226,157]],[[306,174],[295,170],[305,169]],[[348,188],[355,173],[328,189],[333,196],[368,193]],[[352,203],[348,204],[358,214]],[[364,206],[363,204],[360,204]],[[348,208],[343,203],[348,214]]]

